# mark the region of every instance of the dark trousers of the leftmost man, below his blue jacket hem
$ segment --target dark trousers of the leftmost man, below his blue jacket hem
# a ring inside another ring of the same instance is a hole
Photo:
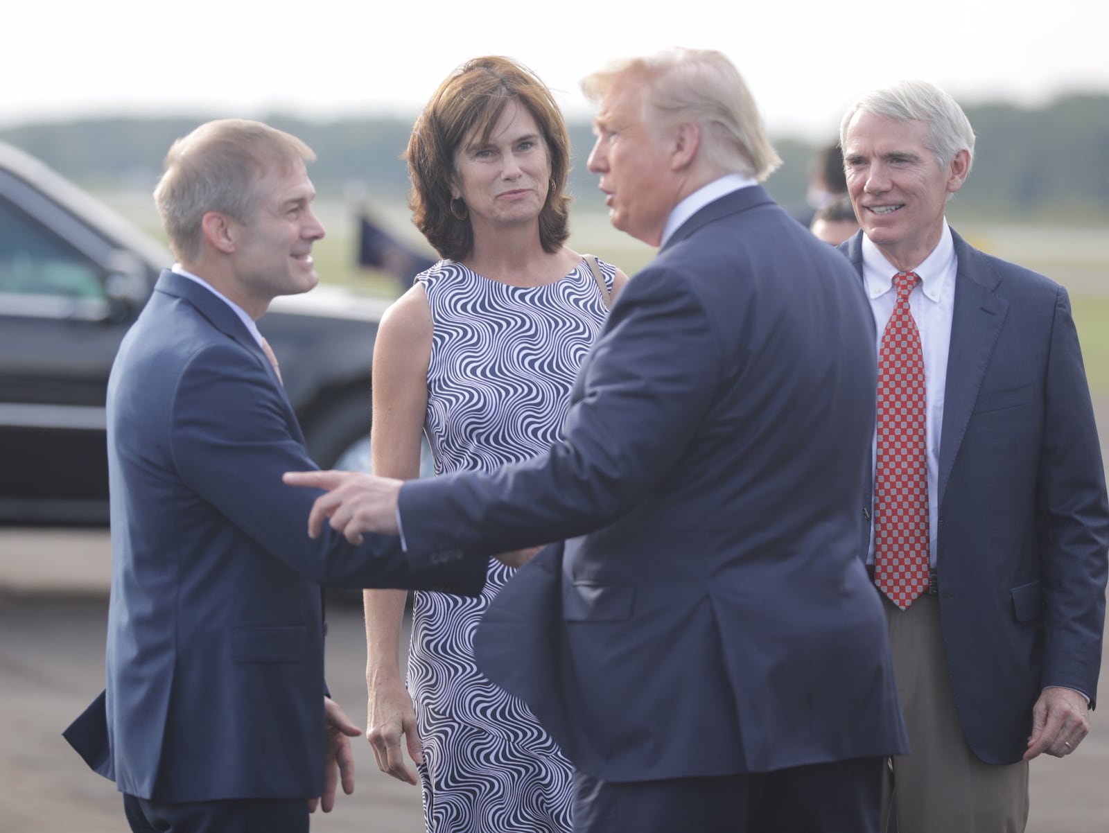
[[[237,800],[170,804],[123,794],[133,833],[308,833],[308,802]]]

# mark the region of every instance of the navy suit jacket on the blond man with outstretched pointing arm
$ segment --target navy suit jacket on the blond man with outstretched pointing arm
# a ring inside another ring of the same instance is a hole
[[[406,484],[407,544],[434,559],[572,539],[502,588],[476,651],[590,775],[905,752],[855,557],[875,379],[848,264],[762,187],[740,190],[621,292],[563,441]]]

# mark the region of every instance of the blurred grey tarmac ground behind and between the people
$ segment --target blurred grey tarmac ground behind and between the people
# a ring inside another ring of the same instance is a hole
[[[0,833],[126,831],[114,785],[60,737],[103,687],[110,560],[106,531],[0,528]],[[333,605],[328,620],[328,684],[364,724],[360,610]],[[1032,761],[1027,833],[1109,833],[1109,727],[1097,712],[1091,724],[1076,753]],[[355,795],[313,816],[313,830],[419,833],[419,791],[378,772],[364,740],[355,756]]]

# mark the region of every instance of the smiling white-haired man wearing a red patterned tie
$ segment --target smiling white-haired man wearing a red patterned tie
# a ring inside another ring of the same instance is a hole
[[[1101,662],[1109,509],[1067,292],[947,225],[974,154],[947,93],[868,93],[841,139],[862,224],[842,248],[879,349],[862,556],[913,750],[893,761],[897,829],[1022,831],[1028,761],[1077,749]],[[895,365],[919,383],[912,402],[882,380]],[[902,488],[912,499],[892,499]]]

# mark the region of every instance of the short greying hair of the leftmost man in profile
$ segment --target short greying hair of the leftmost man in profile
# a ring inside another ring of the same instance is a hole
[[[154,203],[170,248],[189,263],[201,255],[201,222],[210,211],[248,223],[257,211],[257,181],[316,154],[294,135],[246,119],[220,119],[175,141]]]

